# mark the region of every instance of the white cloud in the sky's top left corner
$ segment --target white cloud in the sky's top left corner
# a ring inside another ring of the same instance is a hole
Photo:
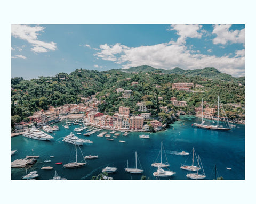
[[[49,50],[54,51],[57,49],[56,43],[45,43],[37,38],[37,36],[40,35],[38,32],[44,32],[44,29],[45,28],[42,26],[30,27],[29,25],[12,25],[12,36],[28,41],[28,43],[33,46],[31,50],[36,53],[48,52]]]

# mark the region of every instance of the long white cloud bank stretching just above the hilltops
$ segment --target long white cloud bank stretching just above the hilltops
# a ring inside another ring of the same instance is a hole
[[[94,55],[103,60],[122,64],[123,68],[147,64],[156,68],[172,69],[202,69],[215,67],[223,73],[234,76],[244,75],[244,56],[242,50],[236,52],[236,57],[203,55],[191,52],[184,44],[163,43],[151,46],[127,47],[121,44],[101,45],[101,52]]]

